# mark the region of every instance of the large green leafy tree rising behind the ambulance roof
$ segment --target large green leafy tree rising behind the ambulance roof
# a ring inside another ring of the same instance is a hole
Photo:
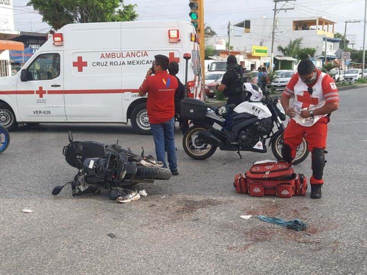
[[[123,0],[31,0],[27,6],[54,30],[71,23],[134,21],[138,17],[136,5],[124,5]]]

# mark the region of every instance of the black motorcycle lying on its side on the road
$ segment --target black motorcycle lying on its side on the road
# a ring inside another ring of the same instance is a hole
[[[124,149],[119,144],[107,145],[96,141],[74,141],[69,131],[69,145],[63,149],[66,162],[78,169],[74,179],[64,185],[56,186],[52,194],[70,184],[73,196],[87,193],[100,193],[102,186],[109,189],[109,199],[120,195],[119,187],[137,183],[153,183],[154,179],[168,180],[171,171],[162,168],[162,163],[153,157],[144,157]]]

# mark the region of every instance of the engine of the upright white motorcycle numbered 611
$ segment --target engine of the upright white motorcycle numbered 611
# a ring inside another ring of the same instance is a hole
[[[273,129],[273,121],[271,118],[257,121],[248,128],[240,131],[238,142],[244,147],[254,147],[259,139],[270,134]]]

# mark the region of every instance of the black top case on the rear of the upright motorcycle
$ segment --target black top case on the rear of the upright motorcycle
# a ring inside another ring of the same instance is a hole
[[[199,99],[185,98],[181,101],[181,116],[186,119],[203,121],[207,111],[207,104]]]

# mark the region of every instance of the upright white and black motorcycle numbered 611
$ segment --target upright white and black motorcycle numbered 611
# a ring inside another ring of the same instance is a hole
[[[182,100],[182,116],[191,120],[192,127],[183,136],[186,154],[197,160],[211,157],[217,148],[223,151],[252,151],[266,153],[266,140],[277,160],[282,159],[285,111],[278,97],[271,98],[267,91],[255,84],[244,83],[246,101],[238,106],[231,104],[212,108],[193,98]],[[264,96],[265,95],[265,96]],[[274,132],[274,126],[277,131]],[[308,156],[307,142],[303,138],[297,148],[294,164]],[[242,158],[242,157],[241,157]]]

